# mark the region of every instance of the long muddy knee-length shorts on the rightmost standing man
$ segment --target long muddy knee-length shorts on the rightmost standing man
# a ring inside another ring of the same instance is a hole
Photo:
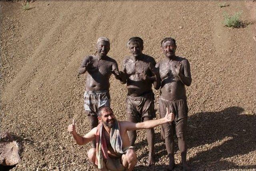
[[[188,120],[188,105],[186,99],[170,100],[160,96],[159,112],[162,118],[166,115],[166,107],[168,107],[170,112],[174,113],[175,119],[172,123],[165,123],[162,125],[162,128],[164,129],[163,137],[173,136],[175,129],[178,138],[185,137]]]

